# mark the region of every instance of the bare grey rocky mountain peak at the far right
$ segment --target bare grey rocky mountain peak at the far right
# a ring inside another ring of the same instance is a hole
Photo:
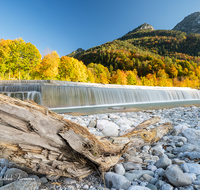
[[[187,34],[200,34],[200,12],[195,12],[186,16],[180,23],[178,23],[173,28],[173,30],[186,32]]]

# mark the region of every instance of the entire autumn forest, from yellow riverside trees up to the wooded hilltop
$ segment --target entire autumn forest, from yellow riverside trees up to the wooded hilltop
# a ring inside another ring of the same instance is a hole
[[[200,35],[133,30],[81,53],[43,57],[22,38],[0,40],[0,79],[50,79],[103,84],[200,86]]]

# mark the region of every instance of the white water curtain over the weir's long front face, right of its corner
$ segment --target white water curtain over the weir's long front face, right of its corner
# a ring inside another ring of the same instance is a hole
[[[49,108],[200,100],[190,88],[116,86],[42,86],[42,100]]]

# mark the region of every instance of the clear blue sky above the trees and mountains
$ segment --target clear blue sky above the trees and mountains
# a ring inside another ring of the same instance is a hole
[[[0,0],[0,39],[21,37],[44,56],[115,40],[139,25],[171,30],[200,0]],[[47,50],[48,49],[48,50]]]

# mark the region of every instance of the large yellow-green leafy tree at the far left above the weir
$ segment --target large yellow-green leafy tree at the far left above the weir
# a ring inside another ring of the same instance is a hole
[[[38,49],[22,38],[15,40],[0,40],[0,72],[8,75],[8,79],[33,78],[35,68],[41,62]]]

